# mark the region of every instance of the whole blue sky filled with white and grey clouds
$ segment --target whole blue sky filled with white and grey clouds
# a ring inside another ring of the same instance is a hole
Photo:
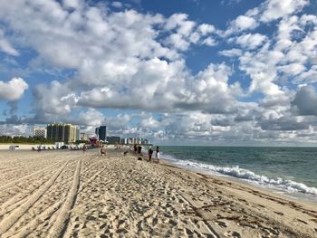
[[[0,1],[0,134],[316,146],[315,0]]]

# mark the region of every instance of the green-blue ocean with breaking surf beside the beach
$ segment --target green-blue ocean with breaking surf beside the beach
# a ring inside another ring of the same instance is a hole
[[[317,148],[159,147],[162,158],[317,202]]]

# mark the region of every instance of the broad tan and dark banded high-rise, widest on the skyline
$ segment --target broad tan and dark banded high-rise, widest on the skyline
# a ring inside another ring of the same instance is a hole
[[[77,127],[72,124],[53,123],[46,127],[47,138],[53,141],[75,142]]]

